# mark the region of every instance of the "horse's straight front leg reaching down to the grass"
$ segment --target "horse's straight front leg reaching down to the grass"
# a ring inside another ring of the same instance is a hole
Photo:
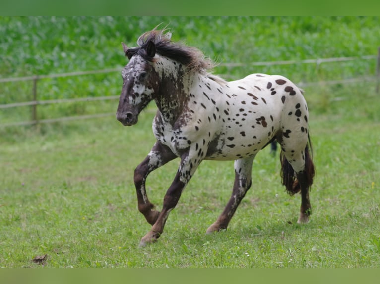
[[[202,155],[204,154],[202,153]],[[202,159],[203,157],[190,156],[188,153],[181,157],[181,164],[174,181],[165,194],[162,210],[151,230],[144,237],[142,237],[140,246],[145,246],[147,243],[155,242],[161,236],[164,231],[165,222],[168,218],[169,212],[176,207],[182,191],[185,189],[185,186],[189,182]]]

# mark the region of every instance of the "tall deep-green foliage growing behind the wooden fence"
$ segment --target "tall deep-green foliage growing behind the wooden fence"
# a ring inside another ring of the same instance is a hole
[[[201,49],[217,63],[376,55],[379,17],[289,16],[70,16],[0,17],[0,77],[121,67],[120,43],[135,46],[143,32],[168,26],[173,40]],[[374,75],[375,60],[245,68],[217,67],[237,79],[281,73],[294,82]],[[117,74],[46,79],[38,99],[117,95]],[[31,100],[31,82],[1,84],[0,103]],[[60,111],[52,106],[47,112]],[[44,113],[40,118],[46,118]]]

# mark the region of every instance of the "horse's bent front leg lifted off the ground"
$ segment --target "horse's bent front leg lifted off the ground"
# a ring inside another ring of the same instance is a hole
[[[161,167],[177,156],[165,145],[156,142],[146,158],[137,166],[134,171],[134,185],[137,193],[138,210],[145,216],[146,221],[153,225],[159,211],[154,210],[154,205],[149,201],[146,195],[145,182],[150,172]]]

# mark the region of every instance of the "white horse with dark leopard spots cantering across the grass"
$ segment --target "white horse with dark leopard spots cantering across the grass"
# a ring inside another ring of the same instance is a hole
[[[138,209],[152,225],[140,245],[160,237],[202,160],[235,160],[231,198],[207,233],[226,229],[252,185],[254,157],[274,140],[282,150],[282,183],[291,195],[301,191],[298,223],[307,223],[314,165],[302,91],[278,75],[251,74],[226,82],[207,73],[212,64],[198,49],[173,43],[165,31],[144,33],[137,44],[128,48],[123,43],[129,63],[122,71],[117,119],[130,126],[151,100],[158,108],[153,121],[157,141],[134,172]],[[148,199],[145,181],[150,172],[177,157],[178,172],[159,212]]]

